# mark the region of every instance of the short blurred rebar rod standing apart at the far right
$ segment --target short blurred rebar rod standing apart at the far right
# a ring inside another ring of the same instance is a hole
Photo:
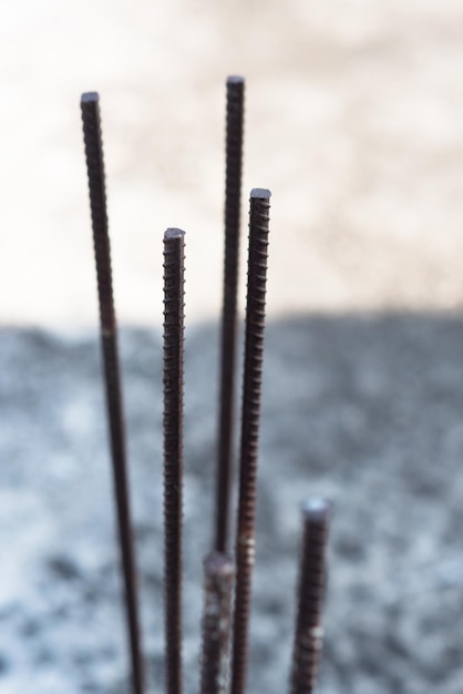
[[[322,608],[330,506],[325,499],[310,498],[302,507],[302,517],[290,694],[313,694],[317,687],[323,642]]]

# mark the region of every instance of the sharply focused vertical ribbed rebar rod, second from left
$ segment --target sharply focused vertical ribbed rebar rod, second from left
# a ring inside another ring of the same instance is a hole
[[[166,694],[182,694],[185,234],[164,234],[164,596]]]

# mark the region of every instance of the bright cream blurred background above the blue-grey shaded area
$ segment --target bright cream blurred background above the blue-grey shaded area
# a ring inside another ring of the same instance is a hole
[[[244,232],[249,188],[274,193],[270,313],[461,307],[460,1],[18,0],[0,71],[0,324],[96,320],[89,90],[121,320],[161,322],[173,225],[187,317],[217,315],[229,73],[247,78]]]

